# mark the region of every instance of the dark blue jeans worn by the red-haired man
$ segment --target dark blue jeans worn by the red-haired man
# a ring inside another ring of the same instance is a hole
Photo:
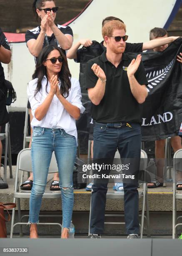
[[[124,207],[126,233],[139,233],[138,220],[138,179],[140,169],[141,130],[140,124],[131,123],[132,127],[123,125],[120,128],[108,127],[96,123],[94,127],[93,158],[98,162],[101,159],[109,159],[113,162],[115,152],[120,152],[122,159],[131,159],[130,173],[135,179],[123,180],[124,183]],[[107,161],[107,160],[106,160]],[[123,163],[123,160],[122,160]],[[125,171],[127,174],[127,171]],[[92,210],[90,218],[90,233],[102,234],[105,220],[105,203],[107,194],[107,182],[94,181],[92,185]]]

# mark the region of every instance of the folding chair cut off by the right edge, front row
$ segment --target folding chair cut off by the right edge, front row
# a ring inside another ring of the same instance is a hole
[[[176,190],[176,174],[177,171],[182,171],[182,149],[179,149],[175,152],[173,157],[173,196],[172,196],[172,238],[175,239],[177,237],[177,227],[182,225],[182,223],[178,223],[178,220],[182,218],[182,216],[177,217],[177,208],[176,208],[176,200],[182,199],[182,193],[177,192]]]

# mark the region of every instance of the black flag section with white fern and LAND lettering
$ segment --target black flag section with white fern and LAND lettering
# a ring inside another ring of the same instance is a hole
[[[182,122],[182,38],[162,52],[142,53],[148,96],[142,108],[142,140],[178,135]]]

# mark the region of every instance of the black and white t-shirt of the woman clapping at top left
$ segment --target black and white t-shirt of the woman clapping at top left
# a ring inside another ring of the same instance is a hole
[[[61,25],[58,25],[56,24],[57,28],[60,29],[60,31],[64,34],[64,35],[71,35],[73,36],[73,33],[72,33],[72,29],[69,27],[69,26],[61,26]],[[27,32],[25,33],[25,41],[26,43],[31,40],[31,39],[37,39],[37,37],[39,36],[40,34],[40,31],[41,31],[41,28],[40,26],[38,26],[37,28],[33,28],[33,29],[30,29],[30,30],[27,30]],[[52,46],[57,46],[57,41],[56,41],[56,38],[55,38],[55,35],[52,34],[52,36],[47,36],[47,39],[49,41],[49,44],[52,45]],[[43,44],[43,47],[45,47],[47,44],[46,40],[44,39],[44,44]],[[62,52],[66,55],[66,51],[64,49],[62,49]]]

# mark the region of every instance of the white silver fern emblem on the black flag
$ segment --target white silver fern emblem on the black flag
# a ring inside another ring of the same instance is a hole
[[[167,72],[172,67],[173,62],[174,62],[174,59],[172,59],[170,64],[168,64],[164,69],[157,70],[154,72],[151,71],[151,72],[147,73],[146,77],[147,77],[148,83],[149,83],[147,85],[147,87],[152,89],[153,86],[156,86],[157,84],[159,84],[167,75]],[[147,91],[150,92],[150,90],[148,88],[147,88]]]

